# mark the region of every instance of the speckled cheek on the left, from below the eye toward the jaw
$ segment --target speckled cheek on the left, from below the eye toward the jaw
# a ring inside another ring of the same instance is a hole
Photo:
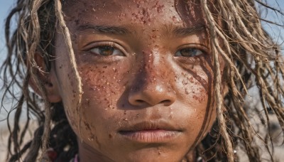
[[[116,66],[119,67],[119,66]],[[89,141],[97,138],[98,132],[111,131],[123,112],[118,112],[116,103],[124,92],[124,72],[120,68],[82,65],[82,128]],[[111,134],[109,134],[111,136]]]

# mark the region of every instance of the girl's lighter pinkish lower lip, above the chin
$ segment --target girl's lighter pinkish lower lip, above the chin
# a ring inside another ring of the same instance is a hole
[[[181,134],[180,131],[167,131],[164,129],[151,129],[141,131],[119,131],[119,134],[141,143],[161,143],[175,139]]]

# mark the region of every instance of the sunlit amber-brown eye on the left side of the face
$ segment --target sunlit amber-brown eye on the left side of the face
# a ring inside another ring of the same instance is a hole
[[[111,45],[102,45],[89,50],[96,55],[124,55],[121,50],[112,47]]]

